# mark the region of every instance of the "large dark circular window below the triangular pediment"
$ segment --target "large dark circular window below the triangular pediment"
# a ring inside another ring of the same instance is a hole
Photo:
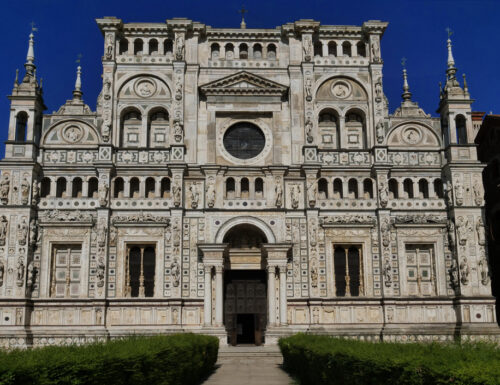
[[[240,122],[229,127],[224,134],[224,148],[238,159],[251,159],[264,149],[266,138],[255,124]]]

